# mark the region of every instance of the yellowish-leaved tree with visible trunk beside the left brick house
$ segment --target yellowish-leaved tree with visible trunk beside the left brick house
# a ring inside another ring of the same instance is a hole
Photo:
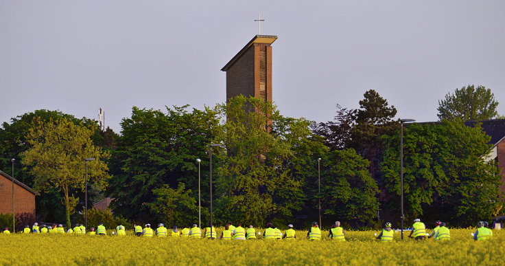
[[[89,177],[95,186],[104,187],[109,177],[108,168],[102,162],[109,155],[93,145],[93,132],[64,118],[49,122],[36,119],[27,135],[31,147],[21,153],[21,162],[30,166],[30,173],[36,177],[36,189],[62,190],[67,226],[70,226],[70,214],[78,200],[70,195],[70,191],[72,188],[84,189],[84,159],[95,158],[88,163]]]

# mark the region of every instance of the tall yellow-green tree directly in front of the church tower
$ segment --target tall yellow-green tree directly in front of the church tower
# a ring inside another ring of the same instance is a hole
[[[270,102],[252,97],[228,99],[221,110],[227,156],[216,169],[218,217],[255,224],[291,217],[303,204],[302,181],[285,166],[294,159],[291,140],[307,137],[309,122],[282,120]]]

